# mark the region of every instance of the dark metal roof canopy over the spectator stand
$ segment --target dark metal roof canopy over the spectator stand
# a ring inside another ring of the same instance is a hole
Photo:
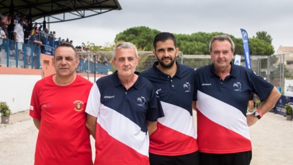
[[[3,15],[26,15],[32,22],[57,23],[122,9],[118,0],[0,0]],[[46,22],[45,18],[50,21]]]

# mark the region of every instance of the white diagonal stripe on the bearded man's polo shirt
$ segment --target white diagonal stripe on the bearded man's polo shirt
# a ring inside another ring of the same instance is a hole
[[[161,101],[165,117],[158,119],[162,125],[196,139],[194,118],[179,106]]]

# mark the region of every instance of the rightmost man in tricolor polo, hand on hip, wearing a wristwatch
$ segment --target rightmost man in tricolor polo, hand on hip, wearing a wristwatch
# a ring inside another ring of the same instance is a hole
[[[195,70],[200,165],[250,165],[249,126],[273,108],[281,93],[251,69],[231,63],[234,43],[229,36],[213,37],[209,52],[212,64]],[[263,104],[246,114],[251,92]]]

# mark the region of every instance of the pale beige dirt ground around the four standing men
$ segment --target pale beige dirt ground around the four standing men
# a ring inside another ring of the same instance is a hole
[[[0,165],[33,165],[38,130],[28,111],[10,116],[0,125]],[[250,127],[251,165],[293,165],[293,121],[267,113]],[[94,152],[94,140],[92,139]],[[94,158],[94,156],[93,156]]]

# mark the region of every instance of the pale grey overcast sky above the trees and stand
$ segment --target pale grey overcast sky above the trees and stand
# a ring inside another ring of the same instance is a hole
[[[135,26],[147,26],[175,34],[224,32],[241,38],[266,31],[279,46],[293,46],[293,0],[118,0],[122,10],[89,18],[50,24],[56,37],[105,45],[116,34]],[[152,42],[152,41],[150,41]],[[207,48],[208,49],[208,48]]]

